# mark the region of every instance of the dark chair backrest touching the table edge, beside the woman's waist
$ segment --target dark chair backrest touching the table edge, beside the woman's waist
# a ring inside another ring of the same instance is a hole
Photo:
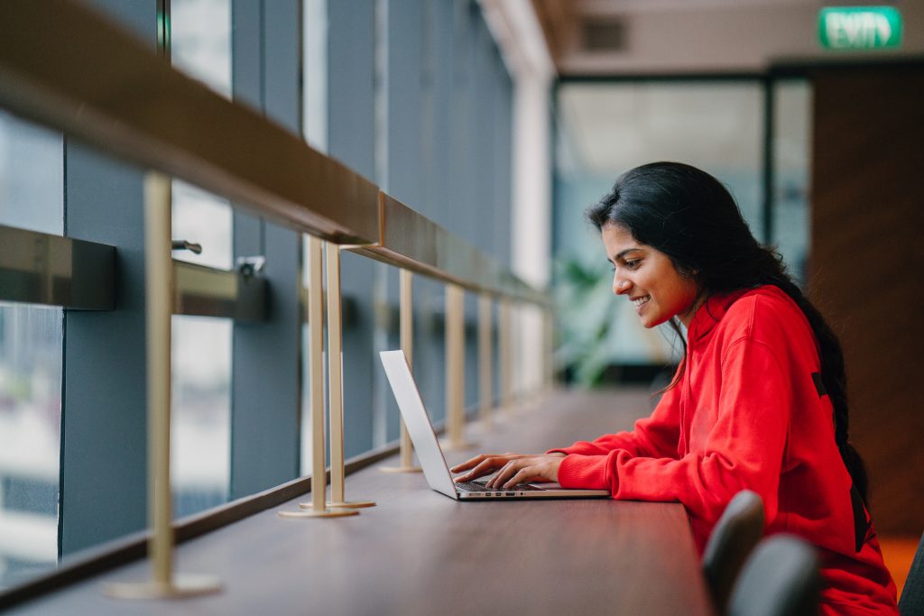
[[[702,570],[712,596],[712,605],[720,614],[738,574],[754,546],[763,536],[763,501],[749,489],[738,492],[712,529],[702,554]]]

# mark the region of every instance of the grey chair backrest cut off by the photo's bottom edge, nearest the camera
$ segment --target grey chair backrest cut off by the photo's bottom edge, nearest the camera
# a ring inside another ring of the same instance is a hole
[[[816,616],[821,574],[812,546],[792,535],[760,542],[728,601],[728,616]]]

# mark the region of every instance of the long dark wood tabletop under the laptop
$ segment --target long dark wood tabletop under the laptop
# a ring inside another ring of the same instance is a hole
[[[488,450],[541,451],[629,428],[649,409],[645,393],[559,394],[470,436]],[[336,520],[283,520],[270,510],[180,546],[177,569],[219,576],[221,595],[103,598],[101,582],[143,578],[139,562],[18,613],[710,613],[676,503],[457,502],[420,475],[375,468],[348,477],[346,493],[378,506]]]

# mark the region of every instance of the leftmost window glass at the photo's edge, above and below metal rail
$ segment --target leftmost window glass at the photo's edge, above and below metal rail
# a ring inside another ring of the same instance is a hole
[[[64,230],[62,136],[0,112],[0,224]],[[57,561],[61,308],[0,304],[0,589]]]

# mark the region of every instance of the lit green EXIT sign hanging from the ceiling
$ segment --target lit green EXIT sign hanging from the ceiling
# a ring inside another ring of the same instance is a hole
[[[818,38],[828,49],[898,47],[902,14],[894,6],[829,6],[818,14]]]

